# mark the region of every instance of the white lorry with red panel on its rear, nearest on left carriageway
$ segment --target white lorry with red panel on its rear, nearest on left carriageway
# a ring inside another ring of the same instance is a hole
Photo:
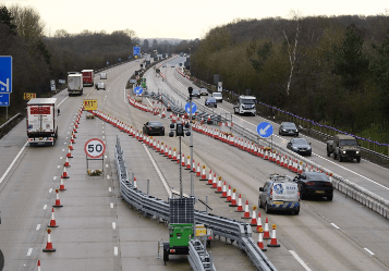
[[[27,102],[27,137],[29,146],[52,146],[58,137],[57,98],[33,98]]]

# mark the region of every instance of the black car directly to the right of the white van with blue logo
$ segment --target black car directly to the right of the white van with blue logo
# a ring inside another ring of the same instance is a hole
[[[321,172],[304,172],[293,180],[299,185],[300,198],[307,196],[326,197],[327,200],[333,198],[333,186],[329,177]]]

